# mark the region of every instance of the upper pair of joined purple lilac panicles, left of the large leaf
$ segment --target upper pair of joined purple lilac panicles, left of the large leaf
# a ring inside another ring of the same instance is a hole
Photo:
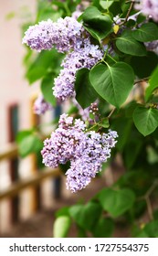
[[[29,27],[23,43],[37,51],[55,47],[58,52],[68,53],[53,88],[53,94],[58,102],[75,95],[74,82],[77,70],[90,69],[103,57],[103,51],[99,46],[90,43],[90,35],[74,17],[58,18],[57,22],[42,21]]]

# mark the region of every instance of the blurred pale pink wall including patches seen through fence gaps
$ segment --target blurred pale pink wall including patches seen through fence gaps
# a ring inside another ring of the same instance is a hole
[[[31,126],[31,97],[37,85],[28,86],[25,80],[21,25],[23,21],[34,20],[36,0],[0,1],[0,151],[14,141],[14,129],[28,129]],[[14,122],[14,123],[13,123]],[[13,127],[14,126],[14,127]],[[32,162],[27,157],[19,163],[19,176],[31,175]],[[0,162],[0,190],[11,184],[11,165]],[[26,204],[29,193],[23,193],[21,200]],[[23,204],[23,203],[22,203]],[[11,224],[10,202],[0,202],[0,229],[9,229]],[[20,215],[27,218],[31,212],[29,204],[22,207]]]

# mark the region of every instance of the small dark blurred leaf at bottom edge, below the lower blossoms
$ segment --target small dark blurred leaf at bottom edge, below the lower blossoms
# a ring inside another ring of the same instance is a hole
[[[110,238],[114,230],[114,222],[110,218],[100,218],[92,231],[95,238]]]

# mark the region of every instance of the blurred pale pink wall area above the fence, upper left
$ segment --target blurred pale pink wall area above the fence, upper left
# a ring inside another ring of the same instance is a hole
[[[29,97],[37,86],[31,88],[24,79],[23,57],[25,47],[21,43],[20,25],[26,11],[33,16],[36,0],[5,0],[0,4],[0,147],[7,142],[7,106],[20,105],[20,127],[29,127]],[[6,19],[9,13],[16,16]],[[22,18],[23,16],[23,18]]]

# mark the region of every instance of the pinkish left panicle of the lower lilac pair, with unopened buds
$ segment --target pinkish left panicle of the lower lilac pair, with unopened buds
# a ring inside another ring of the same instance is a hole
[[[74,152],[78,154],[81,148],[81,137],[84,136],[83,121],[76,121],[67,114],[62,114],[59,119],[58,129],[51,133],[50,139],[44,142],[41,152],[43,163],[49,167],[57,167],[59,164],[66,164],[74,157]]]

